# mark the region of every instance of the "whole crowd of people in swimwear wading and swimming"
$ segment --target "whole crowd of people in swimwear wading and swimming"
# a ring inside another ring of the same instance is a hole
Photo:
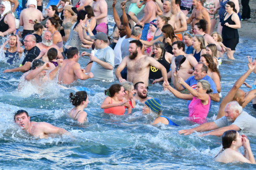
[[[110,88],[105,90],[106,98],[101,104],[104,113],[129,115],[137,103],[143,103],[142,113],[155,115],[152,125],[179,126],[162,115],[160,99],[147,94],[149,84],[160,83],[165,91],[188,100],[189,121],[200,124],[178,133],[209,131],[201,135],[222,136],[223,150],[216,161],[256,163],[248,138],[238,133],[256,133],[256,118],[243,111],[256,97],[255,85],[251,87],[245,82],[252,72],[256,73],[256,60],[248,57],[247,72],[222,99],[217,119],[207,122],[212,101],[219,102],[221,98],[221,57],[226,52],[229,59],[235,59],[241,28],[238,0],[131,0],[128,11],[125,0],[120,4],[120,17],[118,3],[113,0],[116,25],[111,36],[105,0],[79,0],[75,6],[70,0],[50,0],[45,17],[41,0],[28,0],[26,8],[16,1],[1,3],[0,36],[7,38],[2,48],[9,68],[4,73],[24,72],[19,88],[24,81],[40,87],[57,79],[64,88],[78,79],[105,81]],[[192,6],[192,14],[186,17]],[[19,22],[13,14],[16,8]],[[141,11],[143,17],[139,19],[137,14]],[[220,23],[214,32],[218,14]],[[243,17],[248,19],[248,14]],[[191,30],[187,24],[191,24]],[[17,30],[19,25],[23,26],[22,32]],[[91,52],[80,54],[81,48]],[[22,54],[25,57],[18,63]],[[85,68],[79,64],[80,56],[90,58]],[[17,63],[20,66],[13,68]],[[119,83],[112,83],[114,76]],[[245,94],[239,89],[243,84],[252,90]],[[87,92],[71,93],[70,102],[74,108],[68,115],[79,123],[87,122]],[[24,110],[16,111],[14,119],[35,137],[68,133],[46,122],[30,122]],[[245,156],[238,151],[241,146],[246,150]]]

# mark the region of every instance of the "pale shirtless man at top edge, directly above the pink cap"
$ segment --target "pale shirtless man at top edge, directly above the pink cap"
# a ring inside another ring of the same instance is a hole
[[[108,26],[108,4],[105,0],[93,0],[93,12],[97,24],[106,23]]]

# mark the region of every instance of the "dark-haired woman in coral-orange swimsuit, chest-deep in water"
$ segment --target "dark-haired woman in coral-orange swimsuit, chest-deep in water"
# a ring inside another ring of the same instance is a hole
[[[113,84],[108,90],[105,90],[107,97],[102,102],[101,108],[104,113],[115,115],[124,115],[125,108],[128,108],[128,113],[131,113],[131,105],[129,100],[125,99],[125,89],[120,84]]]

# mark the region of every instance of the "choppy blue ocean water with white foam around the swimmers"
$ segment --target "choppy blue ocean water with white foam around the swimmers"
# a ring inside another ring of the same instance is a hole
[[[247,71],[246,56],[255,57],[256,43],[241,37],[236,49],[236,60],[223,58],[219,68],[223,96]],[[86,57],[79,59],[82,68],[88,61]],[[113,116],[103,113],[100,105],[105,99],[104,90],[112,83],[93,79],[79,80],[69,90],[59,88],[56,82],[44,85],[44,89],[27,83],[26,88],[18,91],[22,73],[3,74],[6,68],[13,67],[0,55],[1,170],[256,169],[256,165],[252,164],[214,162],[213,157],[221,149],[221,137],[199,137],[200,133],[179,135],[178,130],[192,128],[197,124],[187,120],[186,101],[164,92],[160,85],[150,85],[148,95],[159,98],[163,105],[163,115],[180,127],[150,125],[154,115],[143,115],[143,105],[138,103],[131,115]],[[246,82],[253,84],[254,80],[255,74],[252,73]],[[84,125],[79,125],[67,115],[73,108],[69,102],[69,94],[77,91],[74,86],[88,88],[90,102],[85,111],[89,122]],[[241,88],[244,91],[250,90],[244,85]],[[214,120],[218,106],[219,103],[212,103],[208,121]],[[28,111],[31,121],[49,122],[65,128],[71,135],[35,139],[15,125],[13,113],[18,109]],[[244,110],[256,116],[251,103]],[[253,153],[256,154],[255,135],[247,136]]]

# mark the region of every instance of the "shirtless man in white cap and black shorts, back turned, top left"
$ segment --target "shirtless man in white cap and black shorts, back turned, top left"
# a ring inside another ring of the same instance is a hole
[[[26,34],[32,34],[34,32],[34,24],[29,23],[29,20],[41,22],[44,19],[42,12],[35,8],[36,6],[36,0],[29,0],[27,8],[23,9],[20,13],[20,26],[23,26],[22,38]]]

